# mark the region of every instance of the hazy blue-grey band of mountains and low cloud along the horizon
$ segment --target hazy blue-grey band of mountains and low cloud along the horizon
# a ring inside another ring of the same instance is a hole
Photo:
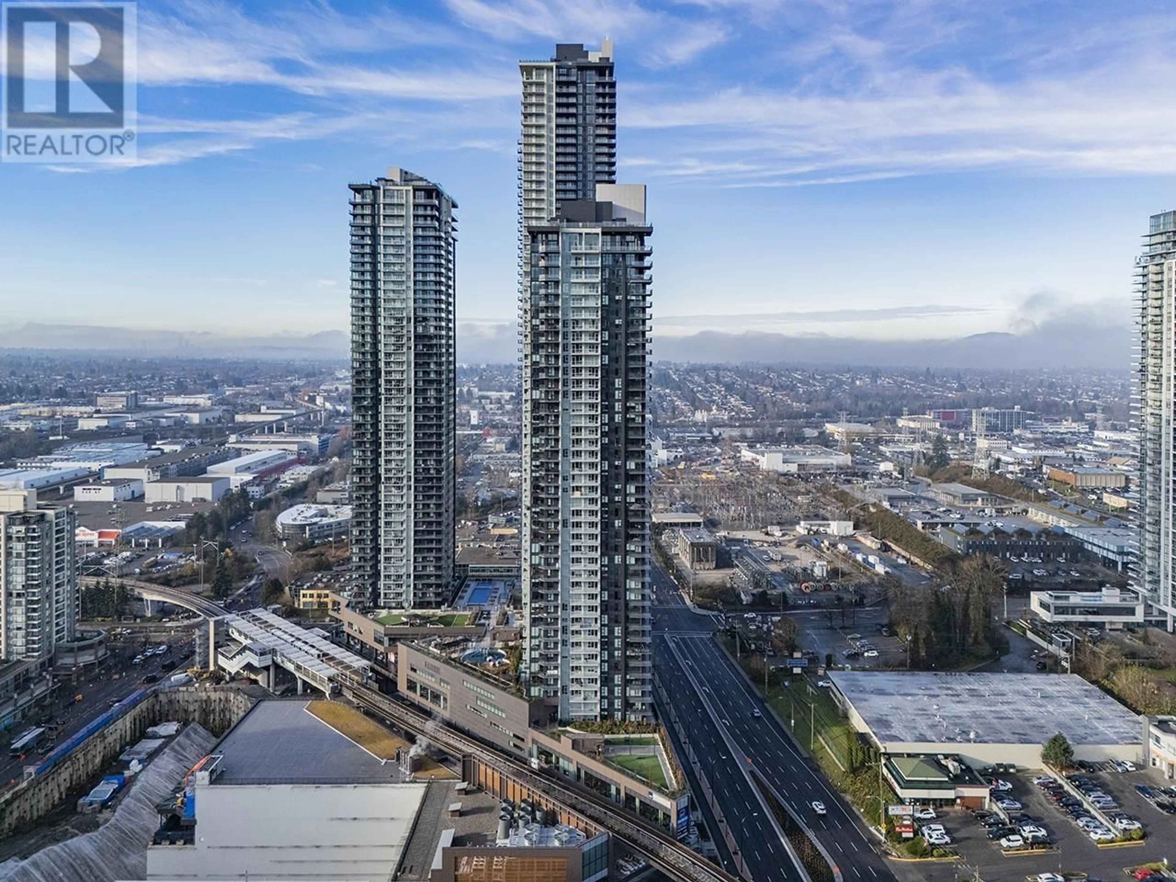
[[[509,363],[517,359],[512,322],[459,322],[457,360]],[[1134,334],[1125,326],[1097,327],[1055,320],[1022,334],[973,334],[950,340],[858,340],[761,332],[703,330],[656,336],[657,361],[861,365],[930,368],[1128,369]],[[269,336],[140,330],[88,325],[0,326],[0,349],[71,349],[160,358],[346,359],[343,330]]]

